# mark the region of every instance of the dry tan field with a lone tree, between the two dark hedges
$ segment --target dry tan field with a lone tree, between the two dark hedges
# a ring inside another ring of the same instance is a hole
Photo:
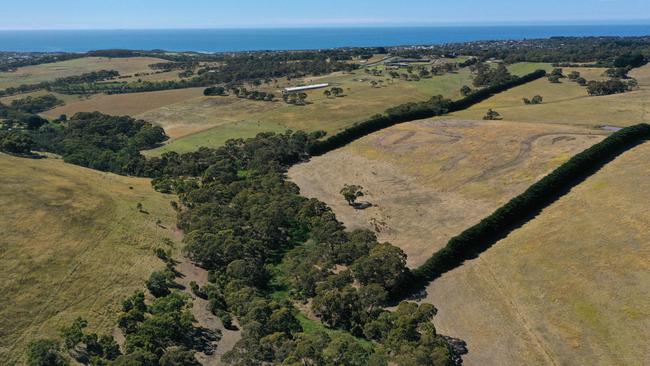
[[[602,138],[600,131],[559,125],[423,120],[313,158],[289,177],[302,194],[328,203],[346,226],[376,229],[417,266]],[[362,185],[373,207],[349,207],[339,194],[346,183]]]

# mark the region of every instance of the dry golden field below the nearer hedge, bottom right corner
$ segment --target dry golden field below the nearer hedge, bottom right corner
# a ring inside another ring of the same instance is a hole
[[[648,365],[650,143],[428,288],[472,365]]]

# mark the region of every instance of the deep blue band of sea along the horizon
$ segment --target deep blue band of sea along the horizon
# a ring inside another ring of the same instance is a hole
[[[0,51],[133,49],[197,52],[426,45],[553,36],[650,35],[646,25],[0,31]]]

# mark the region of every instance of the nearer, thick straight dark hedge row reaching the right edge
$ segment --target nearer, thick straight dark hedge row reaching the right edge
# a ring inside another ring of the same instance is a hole
[[[409,292],[420,290],[422,286],[460,266],[465,260],[476,258],[602,166],[648,139],[650,139],[650,125],[642,123],[621,129],[602,142],[575,155],[480,223],[449,240],[444,248],[436,252],[421,267],[413,270],[414,285],[417,288],[405,290]]]

